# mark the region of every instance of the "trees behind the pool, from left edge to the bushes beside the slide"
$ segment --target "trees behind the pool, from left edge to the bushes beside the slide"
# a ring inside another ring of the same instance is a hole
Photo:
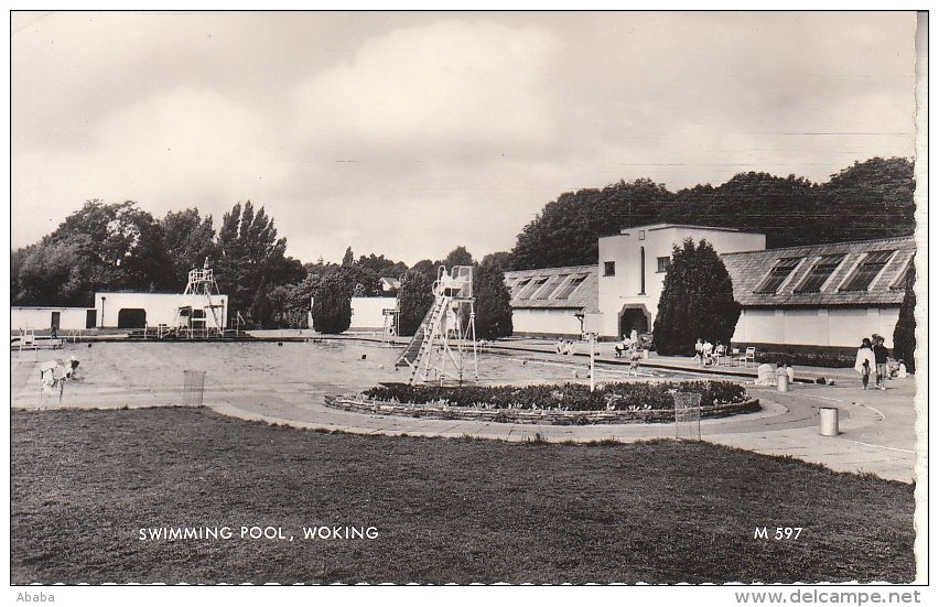
[[[315,328],[341,333],[349,326],[350,297],[393,296],[380,279],[400,279],[406,335],[423,318],[427,307],[420,306],[432,300],[436,268],[474,265],[483,321],[477,334],[511,334],[508,292],[496,258],[477,263],[465,247],[456,247],[442,260],[424,259],[409,268],[384,254],[356,260],[348,248],[341,263],[303,263],[287,254],[287,239],[278,237],[273,218],[250,200],[225,213],[217,231],[213,217],[196,208],[158,219],[132,200],[88,200],[39,242],[11,251],[11,303],[93,307],[100,291],[179,293],[188,271],[206,260],[228,295],[229,316],[240,314],[249,328],[305,327],[312,313]]]

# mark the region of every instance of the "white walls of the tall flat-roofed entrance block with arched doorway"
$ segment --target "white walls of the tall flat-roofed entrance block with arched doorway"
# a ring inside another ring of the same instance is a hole
[[[651,229],[649,229],[651,228]],[[616,337],[624,306],[639,307],[646,314],[651,332],[662,292],[665,272],[658,271],[658,258],[671,258],[672,247],[691,238],[710,242],[717,253],[756,251],[766,248],[762,234],[720,230],[693,226],[639,227],[623,230],[616,236],[600,239],[598,305],[604,314],[603,335]],[[645,249],[645,263],[640,263]],[[605,262],[613,261],[615,275],[604,275]],[[643,289],[645,268],[645,290]]]

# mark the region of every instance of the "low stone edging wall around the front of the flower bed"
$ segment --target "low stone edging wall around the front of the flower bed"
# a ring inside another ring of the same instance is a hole
[[[674,421],[671,409],[641,411],[559,411],[557,409],[471,409],[464,407],[432,407],[427,404],[390,403],[354,399],[349,397],[325,397],[326,407],[379,415],[429,418],[434,420],[466,420],[510,424],[589,425],[629,423],[670,423]],[[702,418],[726,418],[759,411],[759,399],[749,399],[733,404],[702,407]]]

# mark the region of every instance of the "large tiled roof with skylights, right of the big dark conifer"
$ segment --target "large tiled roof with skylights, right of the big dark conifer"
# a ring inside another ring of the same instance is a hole
[[[904,277],[915,254],[916,241],[907,236],[724,253],[721,259],[733,280],[734,299],[744,307],[878,306],[903,302]],[[877,263],[884,259],[884,263]],[[865,262],[872,277],[870,284],[866,289],[848,290],[859,280]],[[781,282],[778,288],[767,289],[777,264]],[[816,284],[821,282],[820,286],[816,292],[799,292],[811,282],[810,274]]]

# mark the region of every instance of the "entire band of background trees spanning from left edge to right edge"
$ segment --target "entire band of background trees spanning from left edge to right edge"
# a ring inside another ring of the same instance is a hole
[[[749,172],[671,193],[647,178],[620,181],[548,203],[511,251],[477,262],[461,246],[411,267],[384,254],[356,259],[352,248],[339,263],[303,263],[287,254],[273,218],[250,200],[224,214],[216,231],[196,208],[158,219],[130,200],[95,199],[40,242],[11,251],[10,293],[13,305],[91,307],[97,291],[181,292],[188,270],[208,259],[229,315],[240,313],[246,326],[303,327],[312,314],[315,328],[339,333],[350,317],[343,302],[395,295],[381,289],[389,277],[400,279],[400,329],[410,335],[432,302],[436,268],[473,265],[477,335],[496,338],[511,334],[504,269],[596,263],[598,237],[656,223],[760,231],[769,248],[908,235],[914,189],[913,163],[896,158],[855,162],[824,184]]]

